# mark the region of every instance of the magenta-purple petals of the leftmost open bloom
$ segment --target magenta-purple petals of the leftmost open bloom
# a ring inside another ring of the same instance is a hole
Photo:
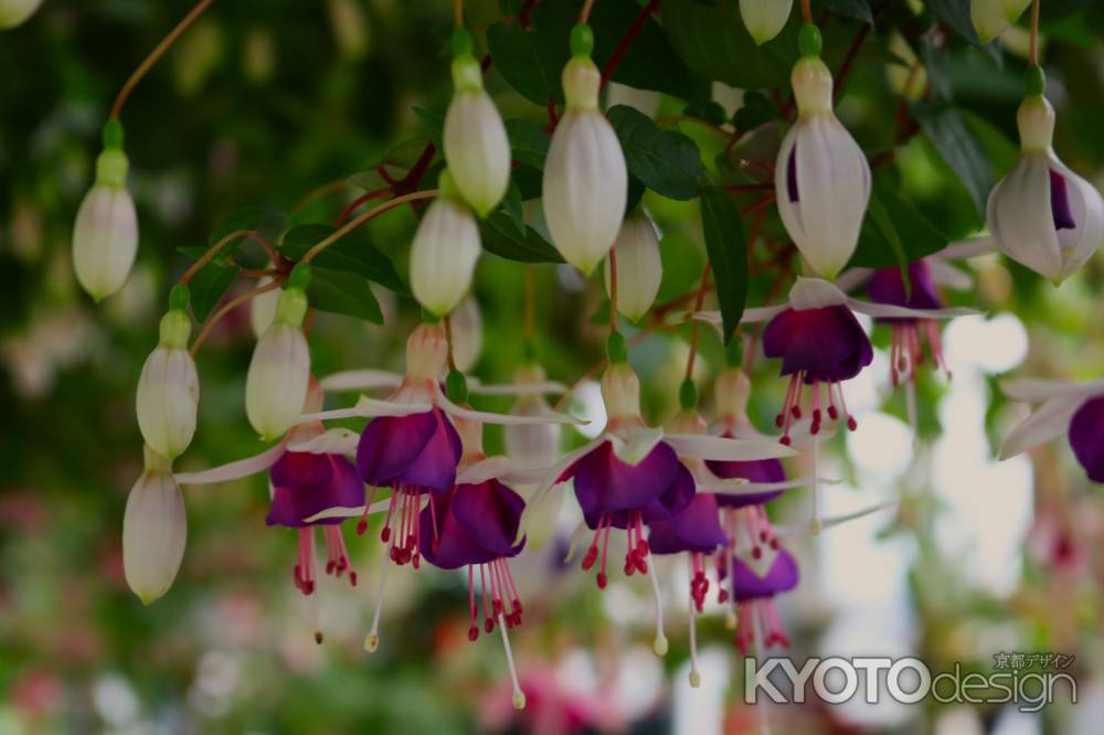
[[[306,455],[306,452],[287,452]],[[277,484],[273,472],[273,502],[265,523],[299,529],[308,525],[337,525],[343,519],[330,518],[314,523],[304,519],[330,508],[358,508],[364,504],[364,482],[353,464],[339,455],[306,455],[325,464],[327,480],[319,484]],[[319,472],[322,475],[322,472]]]

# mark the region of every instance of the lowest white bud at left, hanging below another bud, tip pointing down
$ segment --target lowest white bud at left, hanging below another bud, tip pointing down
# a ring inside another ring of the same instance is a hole
[[[123,516],[123,572],[142,604],[172,586],[187,539],[184,499],[169,460],[146,447],[146,470],[130,489]]]

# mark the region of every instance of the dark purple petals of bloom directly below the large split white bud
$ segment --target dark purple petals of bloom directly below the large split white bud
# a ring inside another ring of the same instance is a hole
[[[873,360],[870,339],[847,307],[786,309],[763,330],[763,353],[782,358],[782,374],[808,373],[806,382],[845,381]]]

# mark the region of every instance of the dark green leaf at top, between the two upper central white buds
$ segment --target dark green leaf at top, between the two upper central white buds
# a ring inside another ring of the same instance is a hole
[[[570,56],[566,36],[498,21],[487,29],[487,50],[495,68],[522,97],[541,106],[563,102],[560,73]]]

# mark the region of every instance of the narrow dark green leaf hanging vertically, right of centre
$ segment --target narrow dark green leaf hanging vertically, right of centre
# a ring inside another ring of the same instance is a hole
[[[709,185],[701,190],[701,228],[721,303],[724,343],[728,344],[747,301],[747,243],[740,210],[720,187]]]

